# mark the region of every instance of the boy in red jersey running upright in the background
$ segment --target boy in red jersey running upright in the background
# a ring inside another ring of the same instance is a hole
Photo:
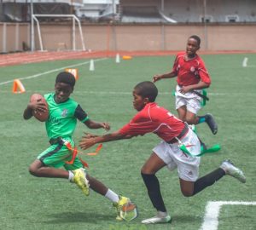
[[[196,116],[201,109],[201,97],[196,92],[201,93],[201,89],[208,88],[211,78],[201,57],[196,54],[200,49],[200,37],[190,36],[187,43],[186,52],[178,53],[172,72],[154,75],[153,82],[163,78],[177,77],[176,87],[176,109],[180,119],[188,124],[200,124],[207,122],[212,134],[218,132],[218,125],[211,114]]]

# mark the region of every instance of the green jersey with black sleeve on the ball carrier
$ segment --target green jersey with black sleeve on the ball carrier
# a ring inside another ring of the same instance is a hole
[[[45,128],[49,139],[57,137],[71,137],[76,128],[77,119],[83,122],[89,117],[79,106],[79,103],[69,98],[62,103],[55,102],[55,94],[44,95],[49,106],[49,118]]]

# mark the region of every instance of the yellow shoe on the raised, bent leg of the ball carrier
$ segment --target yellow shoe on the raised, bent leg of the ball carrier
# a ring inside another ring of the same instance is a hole
[[[71,182],[77,184],[77,186],[82,189],[82,192],[85,196],[89,196],[90,185],[89,181],[86,179],[86,173],[84,169],[73,170],[73,179]]]

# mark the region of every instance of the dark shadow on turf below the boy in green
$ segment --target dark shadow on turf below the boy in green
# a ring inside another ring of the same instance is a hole
[[[111,221],[115,220],[114,213],[111,215],[99,214],[98,212],[61,212],[54,215],[48,216],[53,219],[50,221],[44,221],[48,224],[59,224],[59,223],[73,223],[73,222],[91,222],[96,223],[97,221]]]

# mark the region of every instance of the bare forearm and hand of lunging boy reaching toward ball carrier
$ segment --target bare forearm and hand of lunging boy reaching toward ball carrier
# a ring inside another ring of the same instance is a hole
[[[81,141],[79,141],[79,147],[81,147],[82,149],[85,150],[87,148],[90,148],[90,147],[96,145],[97,143],[129,139],[131,137],[132,137],[132,135],[123,135],[123,134],[120,134],[119,131],[114,132],[112,134],[107,134],[107,135],[85,134],[82,137]]]

